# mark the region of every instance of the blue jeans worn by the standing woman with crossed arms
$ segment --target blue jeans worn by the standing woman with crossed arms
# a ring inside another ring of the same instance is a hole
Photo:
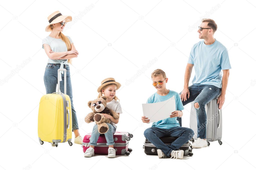
[[[46,94],[56,92],[56,87],[58,83],[58,69],[60,64],[47,63],[45,68],[44,82],[46,88]],[[77,114],[73,105],[73,94],[72,85],[70,79],[69,65],[64,64],[64,68],[67,70],[67,95],[70,97],[71,109],[72,109],[72,131],[79,129],[77,122]],[[62,81],[60,81],[60,91],[64,93],[64,74],[62,74]]]

